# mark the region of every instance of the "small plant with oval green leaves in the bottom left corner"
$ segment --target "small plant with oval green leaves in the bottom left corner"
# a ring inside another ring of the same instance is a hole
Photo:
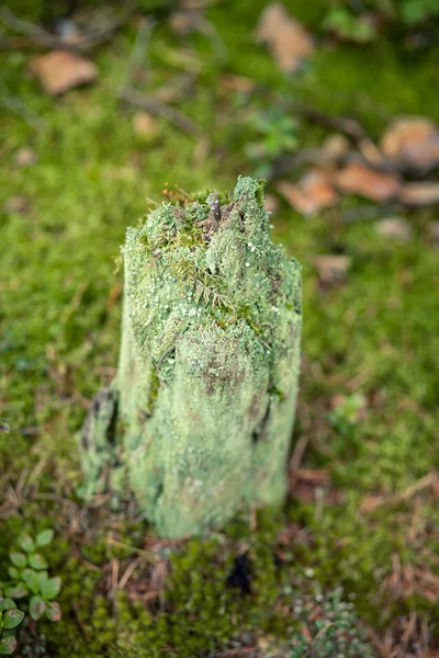
[[[47,561],[38,552],[48,546],[53,537],[54,531],[48,529],[40,532],[35,540],[30,535],[19,540],[19,549],[9,554],[11,581],[7,583],[5,592],[14,599],[30,597],[29,613],[33,620],[45,615],[53,622],[59,622],[61,610],[54,599],[61,589],[61,579],[59,576],[49,577]]]

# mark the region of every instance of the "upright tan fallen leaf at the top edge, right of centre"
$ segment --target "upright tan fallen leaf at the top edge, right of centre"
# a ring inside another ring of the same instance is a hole
[[[292,19],[281,2],[263,10],[256,29],[256,41],[267,44],[283,71],[295,71],[314,53],[313,39],[306,30]]]

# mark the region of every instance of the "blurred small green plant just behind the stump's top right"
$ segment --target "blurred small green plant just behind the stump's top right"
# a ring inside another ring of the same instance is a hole
[[[255,113],[249,123],[260,138],[247,145],[246,155],[256,164],[255,175],[267,177],[277,158],[297,148],[297,124],[281,107]]]

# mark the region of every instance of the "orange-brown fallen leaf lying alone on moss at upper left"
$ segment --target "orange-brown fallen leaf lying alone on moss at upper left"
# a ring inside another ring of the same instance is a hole
[[[92,61],[65,50],[53,50],[34,57],[30,68],[43,89],[52,95],[92,82],[98,77],[98,68]]]

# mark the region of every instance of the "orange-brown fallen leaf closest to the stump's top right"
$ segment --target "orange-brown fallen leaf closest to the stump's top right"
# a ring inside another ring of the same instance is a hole
[[[277,190],[303,215],[315,215],[319,209],[331,206],[338,201],[329,174],[318,169],[309,169],[296,184],[280,181]]]

